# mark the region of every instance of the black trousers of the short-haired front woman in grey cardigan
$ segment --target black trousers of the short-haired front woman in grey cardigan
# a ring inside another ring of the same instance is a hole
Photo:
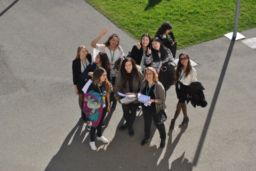
[[[150,138],[150,133],[151,133],[151,123],[152,119],[154,122],[158,121],[156,118],[156,111],[150,111],[142,107],[142,115],[144,118],[144,132],[145,132],[145,137],[147,139]],[[156,126],[156,128],[159,131],[160,134],[160,139],[165,140],[166,139],[166,132],[165,132],[165,126],[164,123],[159,124]]]

